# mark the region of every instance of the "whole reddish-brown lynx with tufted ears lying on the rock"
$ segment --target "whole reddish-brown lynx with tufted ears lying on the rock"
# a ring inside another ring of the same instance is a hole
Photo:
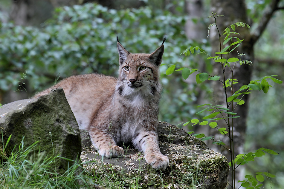
[[[88,130],[100,155],[121,157],[124,150],[118,145],[132,142],[152,168],[165,170],[169,159],[161,154],[156,131],[164,41],[151,54],[132,54],[117,38],[118,78],[95,73],[71,76],[34,97],[62,87],[79,127]]]

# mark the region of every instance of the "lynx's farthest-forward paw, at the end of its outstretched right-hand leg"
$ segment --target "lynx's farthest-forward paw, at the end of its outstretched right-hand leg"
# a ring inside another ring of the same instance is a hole
[[[156,171],[164,171],[169,165],[169,158],[163,154],[147,154],[145,159]]]

